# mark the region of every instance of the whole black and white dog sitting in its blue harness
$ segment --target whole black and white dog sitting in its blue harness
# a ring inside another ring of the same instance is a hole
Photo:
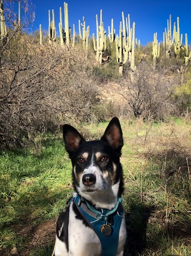
[[[124,143],[118,118],[100,140],[85,141],[70,125],[63,126],[63,137],[75,193],[58,217],[54,255],[123,255],[127,231],[119,158]]]

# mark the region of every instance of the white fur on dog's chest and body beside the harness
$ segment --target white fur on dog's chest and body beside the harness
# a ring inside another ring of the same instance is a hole
[[[73,211],[73,201],[70,204],[69,213],[69,225],[68,225],[68,245],[69,251],[66,249],[66,245],[57,238],[56,242],[56,256],[100,256],[101,255],[101,243],[95,231],[84,225],[81,219],[76,218],[76,214]],[[61,227],[62,228],[62,227]],[[125,218],[123,216],[121,227],[119,230],[118,249],[116,256],[123,255],[124,244],[126,240],[127,232],[125,227]]]

